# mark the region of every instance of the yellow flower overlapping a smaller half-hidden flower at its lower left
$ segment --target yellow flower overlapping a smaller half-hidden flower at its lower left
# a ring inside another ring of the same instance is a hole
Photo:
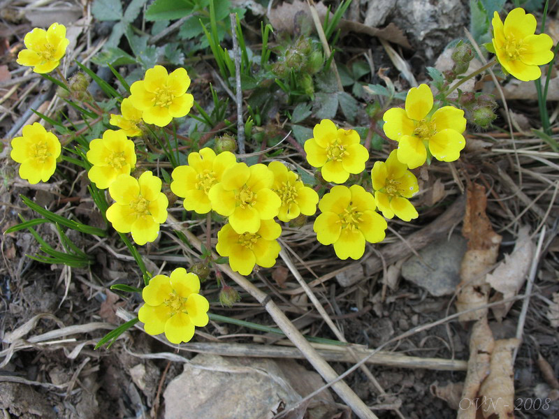
[[[171,119],[187,115],[194,104],[194,96],[187,93],[190,78],[184,68],[168,74],[163,66],[145,72],[144,80],[133,82],[130,100],[142,111],[147,124],[166,126]]]

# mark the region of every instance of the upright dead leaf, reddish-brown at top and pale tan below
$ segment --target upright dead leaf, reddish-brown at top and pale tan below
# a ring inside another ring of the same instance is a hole
[[[486,283],[486,272],[497,260],[502,237],[493,231],[486,214],[486,189],[470,184],[466,195],[466,212],[462,234],[467,238],[467,251],[460,266],[460,284],[456,309],[465,311],[487,304],[491,287]],[[484,318],[487,309],[460,315],[460,321]]]

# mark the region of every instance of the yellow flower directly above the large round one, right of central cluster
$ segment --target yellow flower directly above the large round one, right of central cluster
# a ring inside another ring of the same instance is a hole
[[[344,183],[349,173],[365,170],[369,152],[359,143],[353,129],[338,129],[330,119],[322,119],[312,130],[314,138],[305,141],[310,166],[321,168],[326,182]]]

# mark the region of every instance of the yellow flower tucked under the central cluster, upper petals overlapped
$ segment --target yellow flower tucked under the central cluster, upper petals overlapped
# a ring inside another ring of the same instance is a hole
[[[241,275],[249,275],[254,265],[273,267],[279,251],[277,237],[282,228],[273,220],[262,220],[256,233],[235,233],[231,224],[226,224],[217,233],[215,249],[221,256],[229,257],[229,265]]]

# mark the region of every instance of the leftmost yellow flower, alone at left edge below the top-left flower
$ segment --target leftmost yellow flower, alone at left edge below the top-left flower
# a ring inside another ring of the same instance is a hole
[[[24,126],[22,134],[22,137],[12,140],[10,152],[10,157],[22,164],[20,177],[27,179],[30,184],[36,184],[40,180],[47,182],[57,168],[60,141],[38,122]]]

